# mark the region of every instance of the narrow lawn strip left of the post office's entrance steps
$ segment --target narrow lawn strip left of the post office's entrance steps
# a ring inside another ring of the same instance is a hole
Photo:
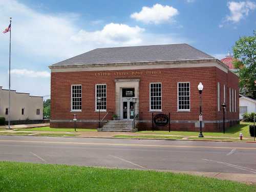
[[[14,131],[42,131],[42,132],[75,132],[74,128],[50,128],[50,126],[16,129]],[[97,131],[97,129],[76,129],[77,132]]]

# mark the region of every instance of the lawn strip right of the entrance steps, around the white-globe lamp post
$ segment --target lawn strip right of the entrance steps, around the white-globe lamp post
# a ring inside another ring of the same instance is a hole
[[[252,138],[249,134],[249,125],[253,123],[249,122],[240,122],[239,125],[234,125],[226,130],[226,133],[223,134],[222,132],[203,132],[204,136],[209,137],[239,137],[240,133],[243,133],[243,137]],[[172,130],[172,124],[171,128]],[[199,129],[198,129],[199,130]],[[184,132],[184,131],[140,131],[137,132],[140,134],[159,134],[159,135],[182,135],[182,136],[198,136],[199,132]]]

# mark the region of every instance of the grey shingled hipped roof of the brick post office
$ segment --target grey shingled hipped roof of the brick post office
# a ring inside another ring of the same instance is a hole
[[[52,66],[214,58],[187,44],[98,48]]]

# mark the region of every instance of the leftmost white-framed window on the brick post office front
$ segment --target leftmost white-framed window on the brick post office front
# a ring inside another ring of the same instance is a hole
[[[82,86],[73,84],[71,86],[71,111],[82,110]]]

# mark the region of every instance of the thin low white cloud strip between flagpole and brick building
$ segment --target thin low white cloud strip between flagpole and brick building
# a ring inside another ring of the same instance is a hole
[[[21,75],[26,77],[50,77],[51,74],[48,71],[32,71],[27,69],[12,69],[11,74]]]

